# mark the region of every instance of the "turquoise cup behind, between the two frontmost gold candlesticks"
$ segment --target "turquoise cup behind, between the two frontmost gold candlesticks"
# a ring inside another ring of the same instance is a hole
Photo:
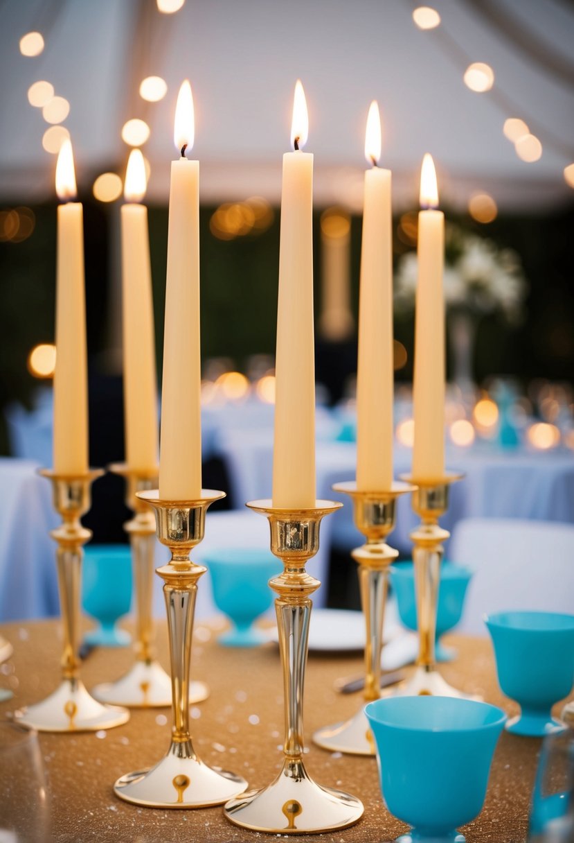
[[[260,547],[213,548],[201,561],[210,572],[215,605],[231,620],[231,629],[219,642],[226,647],[257,647],[268,641],[253,623],[273,604],[268,580],[280,572],[280,561]]]

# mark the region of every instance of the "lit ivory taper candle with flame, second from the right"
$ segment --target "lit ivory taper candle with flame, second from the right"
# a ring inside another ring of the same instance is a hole
[[[357,488],[392,484],[393,326],[391,170],[380,158],[379,106],[372,102],[364,143],[373,164],[364,174],[357,368]]]

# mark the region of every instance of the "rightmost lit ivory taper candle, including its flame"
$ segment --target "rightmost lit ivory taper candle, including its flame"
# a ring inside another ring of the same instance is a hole
[[[444,477],[444,213],[437,210],[433,158],[423,158],[418,215],[418,279],[415,314],[413,402],[415,440],[412,478]]]

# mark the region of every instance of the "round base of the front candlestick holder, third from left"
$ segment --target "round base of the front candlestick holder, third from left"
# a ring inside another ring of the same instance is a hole
[[[194,753],[191,741],[173,741],[167,754],[151,770],[128,773],[114,784],[125,802],[146,808],[210,808],[221,805],[247,781],[226,770],[208,767]]]

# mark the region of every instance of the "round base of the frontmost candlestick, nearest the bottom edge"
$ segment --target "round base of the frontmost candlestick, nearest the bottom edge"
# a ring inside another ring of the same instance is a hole
[[[225,814],[252,831],[302,835],[345,829],[360,819],[363,810],[357,797],[316,784],[301,759],[285,758],[275,781],[231,799]]]

